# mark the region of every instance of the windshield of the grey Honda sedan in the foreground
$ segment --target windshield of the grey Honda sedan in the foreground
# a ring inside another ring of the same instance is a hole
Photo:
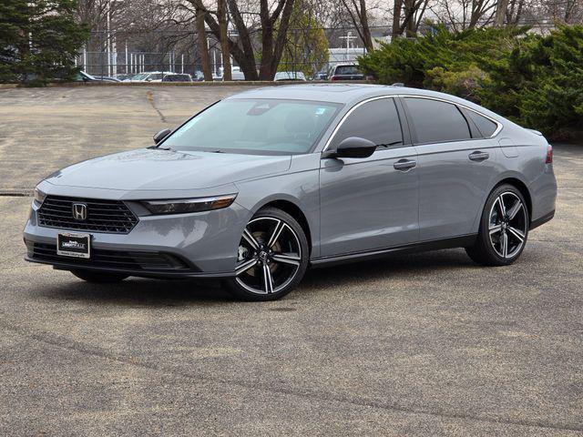
[[[223,100],[179,127],[161,147],[265,155],[307,153],[339,107],[303,100]]]

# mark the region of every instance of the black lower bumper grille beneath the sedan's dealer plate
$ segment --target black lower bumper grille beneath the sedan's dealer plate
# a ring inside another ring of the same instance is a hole
[[[55,264],[78,265],[79,268],[145,270],[148,272],[194,271],[178,257],[169,253],[137,250],[91,249],[90,259],[62,257],[56,254],[56,245],[26,241],[28,258]]]

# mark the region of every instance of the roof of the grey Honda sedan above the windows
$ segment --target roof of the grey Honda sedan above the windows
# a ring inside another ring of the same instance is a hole
[[[478,112],[486,114],[500,120],[501,117],[485,107],[480,107],[475,103],[460,97],[451,96],[437,91],[427,89],[409,88],[406,86],[387,86],[372,84],[305,84],[288,86],[262,86],[240,94],[228,97],[236,98],[278,98],[284,100],[308,100],[315,102],[340,103],[352,105],[371,97],[383,96],[420,96],[434,97],[440,100],[449,101],[465,107],[469,107]]]

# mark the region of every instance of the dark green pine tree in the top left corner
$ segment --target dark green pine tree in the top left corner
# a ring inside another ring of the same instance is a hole
[[[76,8],[77,0],[2,0],[0,82],[45,84],[73,76],[77,50],[88,36]]]

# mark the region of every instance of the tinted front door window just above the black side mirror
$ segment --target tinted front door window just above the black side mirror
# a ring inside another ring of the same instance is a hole
[[[354,109],[336,132],[331,148],[337,147],[348,137],[368,139],[377,146],[402,145],[403,132],[394,99],[379,98]]]

